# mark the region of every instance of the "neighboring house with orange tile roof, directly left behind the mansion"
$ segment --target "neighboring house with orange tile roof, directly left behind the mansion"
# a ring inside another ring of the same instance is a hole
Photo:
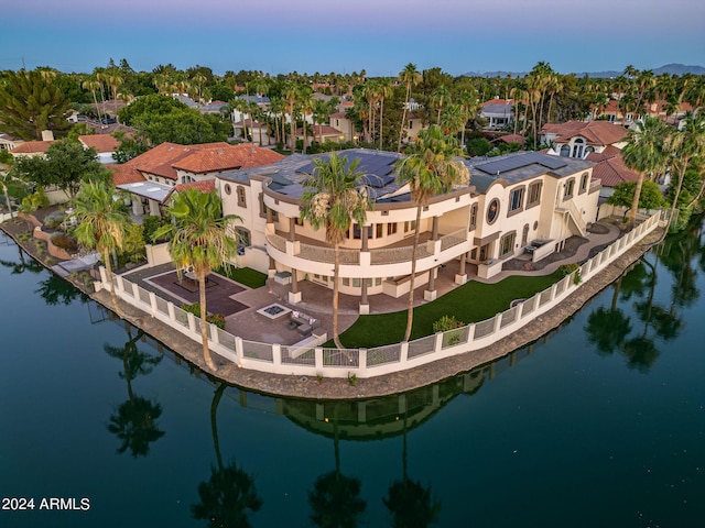
[[[110,169],[113,185],[131,194],[132,215],[139,219],[142,215],[161,215],[161,208],[177,185],[213,180],[224,170],[268,165],[282,157],[253,144],[162,143]]]

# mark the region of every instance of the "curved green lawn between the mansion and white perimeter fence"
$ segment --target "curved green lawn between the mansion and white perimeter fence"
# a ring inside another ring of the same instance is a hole
[[[497,284],[469,282],[443,297],[414,309],[411,339],[433,333],[433,323],[443,316],[455,316],[464,323],[482,321],[509,308],[514,299],[528,299],[562,278],[560,272],[544,276],[510,276]],[[340,334],[346,346],[380,346],[399,343],[406,329],[406,311],[360,316]],[[326,343],[330,346],[333,341]]]

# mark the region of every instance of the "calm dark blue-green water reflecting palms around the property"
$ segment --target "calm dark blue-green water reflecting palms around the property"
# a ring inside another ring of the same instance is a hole
[[[702,224],[532,346],[364,404],[219,387],[0,261],[0,496],[35,505],[2,527],[705,526]]]

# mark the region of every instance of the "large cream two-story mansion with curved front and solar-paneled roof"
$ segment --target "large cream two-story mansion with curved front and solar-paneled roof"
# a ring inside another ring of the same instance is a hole
[[[397,183],[399,154],[361,148],[341,154],[359,160],[375,201],[366,224],[352,224],[340,249],[340,292],[357,296],[360,312],[367,312],[369,295],[409,293],[416,207],[408,185]],[[302,300],[301,280],[334,286],[325,229],[300,220],[302,180],[313,169],[312,157],[326,156],[294,154],[217,175],[224,213],[242,219],[237,229],[247,248],[240,264],[290,282],[292,302]],[[590,162],[519,152],[464,163],[470,185],[433,197],[422,211],[416,285],[426,285],[426,299],[436,296],[440,266],[455,270],[458,284],[467,280],[468,265],[490,277],[532,242],[540,240],[545,254],[558,251],[567,238],[585,235],[596,219],[599,182]]]

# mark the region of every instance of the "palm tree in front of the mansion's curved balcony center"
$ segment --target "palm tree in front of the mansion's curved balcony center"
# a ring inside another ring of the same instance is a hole
[[[325,228],[326,242],[335,251],[333,268],[333,339],[341,349],[338,337],[338,273],[340,268],[340,243],[345,240],[352,221],[365,229],[367,211],[371,200],[362,185],[364,173],[357,170],[358,160],[348,164],[347,156],[332,154],[328,160],[314,158],[312,174],[304,179],[301,197],[301,219],[318,230]]]

